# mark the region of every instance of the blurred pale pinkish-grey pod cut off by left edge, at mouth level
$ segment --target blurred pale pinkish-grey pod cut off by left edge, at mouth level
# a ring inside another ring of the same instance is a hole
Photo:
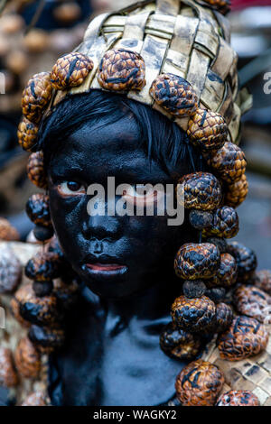
[[[11,293],[21,282],[23,267],[10,248],[0,250],[0,293]]]

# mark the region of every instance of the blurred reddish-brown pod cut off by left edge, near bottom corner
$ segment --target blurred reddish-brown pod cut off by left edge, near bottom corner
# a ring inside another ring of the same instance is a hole
[[[18,375],[14,368],[12,351],[6,347],[0,347],[0,385],[15,387],[18,384]]]

